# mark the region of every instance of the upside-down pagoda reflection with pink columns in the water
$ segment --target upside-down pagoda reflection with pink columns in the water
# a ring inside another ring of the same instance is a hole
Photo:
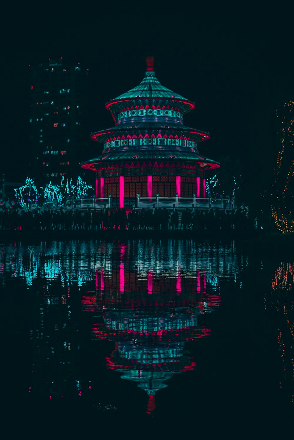
[[[185,352],[185,341],[209,336],[210,330],[198,318],[220,305],[220,297],[207,285],[206,272],[182,278],[181,271],[154,276],[147,270],[138,278],[129,270],[129,255],[120,246],[112,274],[96,272],[96,293],[82,297],[84,309],[101,313],[92,326],[93,337],[115,342],[106,358],[107,368],[121,372],[121,378],[136,382],[147,392],[147,413],[155,408],[155,393],[167,386],[175,374],[195,369],[194,359]],[[125,263],[128,270],[125,271]]]

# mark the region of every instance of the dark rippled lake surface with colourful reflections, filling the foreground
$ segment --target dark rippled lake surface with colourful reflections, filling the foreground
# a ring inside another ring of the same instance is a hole
[[[293,259],[0,246],[9,438],[292,438]]]

